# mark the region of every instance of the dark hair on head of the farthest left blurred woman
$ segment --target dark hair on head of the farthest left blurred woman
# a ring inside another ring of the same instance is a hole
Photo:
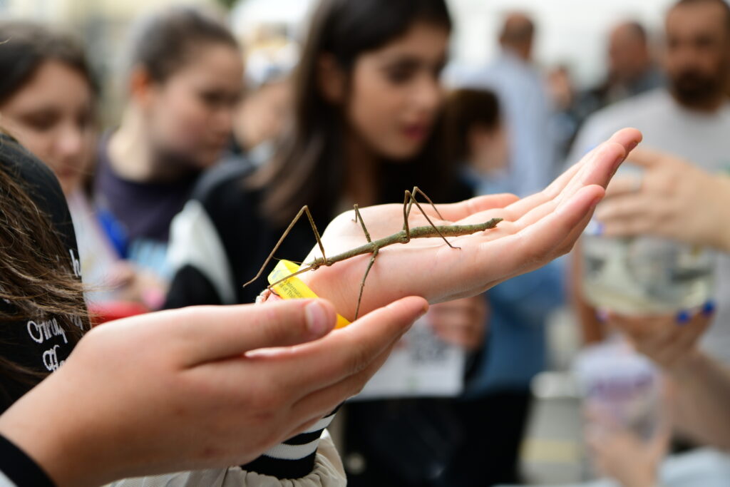
[[[59,61],[79,72],[98,91],[79,39],[30,22],[0,23],[0,104],[30,81],[46,61]]]

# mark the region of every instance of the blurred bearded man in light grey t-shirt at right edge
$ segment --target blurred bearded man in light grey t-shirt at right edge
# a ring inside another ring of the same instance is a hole
[[[666,88],[607,107],[587,120],[569,163],[602,134],[634,126],[645,147],[686,158],[709,172],[730,169],[730,6],[723,0],[680,0],[666,15]],[[707,334],[707,350],[730,363],[730,259],[717,272],[718,319]],[[595,310],[578,299],[587,341],[600,340]]]

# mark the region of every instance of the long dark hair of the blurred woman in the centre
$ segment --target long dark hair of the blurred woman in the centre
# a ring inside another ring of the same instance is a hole
[[[344,163],[342,110],[320,93],[318,60],[332,55],[347,74],[362,53],[402,36],[416,22],[450,31],[444,0],[323,0],[315,11],[294,79],[293,121],[280,150],[248,184],[264,189],[261,210],[268,221],[285,224],[304,204],[321,218],[331,217],[342,195]],[[434,127],[434,134],[439,133]],[[380,202],[396,202],[412,185],[442,200],[449,189],[450,169],[442,164],[434,137],[414,164],[383,161]]]

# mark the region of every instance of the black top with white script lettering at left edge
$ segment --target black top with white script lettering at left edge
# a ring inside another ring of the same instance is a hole
[[[17,142],[3,135],[0,135],[0,170],[20,183],[38,209],[50,219],[71,258],[72,269],[69,272],[80,277],[80,262],[71,215],[53,172]],[[0,198],[4,194],[3,188],[0,188]],[[10,251],[12,252],[12,248]],[[0,299],[0,307],[12,311],[12,307],[3,299]],[[0,321],[0,357],[28,369],[53,372],[64,363],[73,347],[74,340],[69,337],[69,332],[53,316],[34,320]],[[4,392],[0,394],[1,414],[20,399],[20,396],[26,394],[32,385],[7,375],[0,375],[0,381]],[[1,437],[0,472],[18,486],[53,486],[34,461]]]

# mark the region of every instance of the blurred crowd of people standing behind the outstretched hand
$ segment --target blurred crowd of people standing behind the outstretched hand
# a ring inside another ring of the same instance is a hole
[[[57,26],[0,23],[0,126],[61,182],[95,323],[254,302],[276,262],[242,285],[286,230],[275,256],[303,261],[310,221],[324,229],[414,186],[439,203],[528,196],[635,127],[631,169],[570,256],[431,307],[434,335],[463,352],[461,393],[348,402],[337,446],[351,486],[520,483],[548,321],[569,307],[591,475],[730,485],[662,476],[699,448],[716,448],[710,477],[730,464],[726,1],[678,0],[658,32],[615,25],[605,77],[587,90],[569,66],[534,61],[540,26],[521,12],[483,39],[499,54],[477,67],[449,64],[442,0],[322,0],[307,22],[301,38],[269,27],[242,43],[204,9],[140,18],[111,126],[88,46]],[[310,221],[290,226],[304,205]],[[661,295],[671,285],[680,294]]]

